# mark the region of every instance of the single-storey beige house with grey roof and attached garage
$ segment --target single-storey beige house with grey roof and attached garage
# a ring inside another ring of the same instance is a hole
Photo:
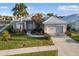
[[[32,15],[22,18],[22,23],[20,21],[16,21],[14,24],[14,29],[20,29],[20,24],[22,24],[22,28],[27,31],[31,31],[35,28],[35,24],[32,21]],[[45,33],[56,35],[60,33],[65,33],[67,28],[67,22],[57,18],[55,16],[49,17],[43,14],[43,29]]]

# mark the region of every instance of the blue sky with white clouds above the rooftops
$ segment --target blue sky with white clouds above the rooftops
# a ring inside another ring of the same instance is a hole
[[[16,3],[0,3],[0,15],[12,15],[11,9]],[[78,3],[25,3],[26,10],[31,13],[54,13],[67,16],[79,13]]]

